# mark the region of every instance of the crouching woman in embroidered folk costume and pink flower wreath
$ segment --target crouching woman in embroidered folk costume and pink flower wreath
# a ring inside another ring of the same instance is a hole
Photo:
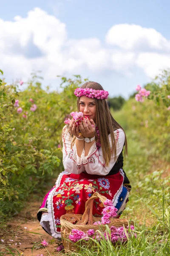
[[[97,91],[96,91],[97,90]],[[60,238],[60,217],[83,214],[85,202],[94,192],[113,201],[119,218],[131,189],[123,171],[123,147],[127,140],[123,128],[113,119],[106,99],[108,92],[96,82],[77,88],[78,110],[83,113],[78,125],[74,119],[62,131],[63,165],[55,186],[45,196],[37,214],[51,236]],[[94,201],[93,215],[101,216],[103,204]]]

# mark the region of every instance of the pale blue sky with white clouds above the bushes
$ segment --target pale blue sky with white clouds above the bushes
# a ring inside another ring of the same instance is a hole
[[[128,98],[170,68],[169,0],[0,0],[0,69],[7,83],[41,70],[97,81]],[[23,85],[24,88],[24,85]]]

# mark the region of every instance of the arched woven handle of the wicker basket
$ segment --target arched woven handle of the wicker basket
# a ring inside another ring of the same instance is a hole
[[[95,192],[92,197],[85,202],[85,212],[82,215],[81,224],[85,225],[86,223],[88,223],[88,225],[93,225],[93,204],[94,200],[97,198],[99,198],[102,203],[104,203],[107,199],[105,196],[100,195],[98,192]]]

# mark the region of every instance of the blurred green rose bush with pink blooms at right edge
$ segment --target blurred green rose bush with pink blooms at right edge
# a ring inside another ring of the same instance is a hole
[[[120,123],[126,131],[139,134],[154,157],[170,161],[170,72],[163,71],[143,89],[138,86],[137,94],[142,90],[149,95],[138,101],[133,94],[118,114]]]

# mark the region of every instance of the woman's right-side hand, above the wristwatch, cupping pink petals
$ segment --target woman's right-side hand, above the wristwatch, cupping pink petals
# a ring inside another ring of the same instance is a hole
[[[79,131],[83,137],[93,138],[95,135],[95,122],[92,119],[89,120],[88,118],[84,118],[82,122],[79,122]]]

